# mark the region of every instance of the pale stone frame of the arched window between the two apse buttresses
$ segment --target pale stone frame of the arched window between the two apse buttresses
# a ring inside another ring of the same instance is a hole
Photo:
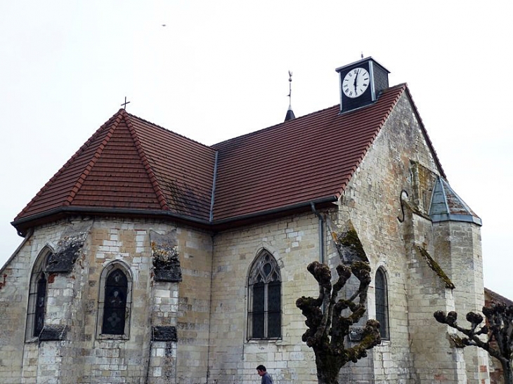
[[[103,310],[105,304],[105,282],[107,277],[115,270],[121,270],[126,276],[126,308],[125,308],[125,322],[124,333],[119,335],[112,335],[109,333],[102,333],[103,327]],[[130,324],[131,324],[131,307],[132,307],[132,285],[134,277],[132,275],[129,265],[122,260],[114,260],[108,265],[103,267],[100,274],[100,284],[98,288],[98,314],[96,316],[96,339],[97,340],[129,340],[130,338]]]

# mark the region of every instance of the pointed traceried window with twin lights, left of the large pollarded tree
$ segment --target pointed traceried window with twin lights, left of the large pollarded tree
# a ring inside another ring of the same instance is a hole
[[[254,260],[248,279],[248,339],[281,337],[280,267],[268,251]]]

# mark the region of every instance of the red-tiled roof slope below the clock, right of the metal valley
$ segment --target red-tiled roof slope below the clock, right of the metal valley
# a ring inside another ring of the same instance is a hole
[[[405,85],[368,107],[339,105],[214,145],[219,150],[214,220],[336,200]]]

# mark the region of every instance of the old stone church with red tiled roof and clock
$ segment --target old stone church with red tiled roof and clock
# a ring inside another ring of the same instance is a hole
[[[408,86],[373,58],[337,72],[339,105],[212,146],[126,110],[100,126],[13,220],[0,383],[317,383],[296,300],[309,263],[340,263],[332,225],[361,241],[382,336],[339,382],[490,383],[433,317],[484,304],[481,219]]]

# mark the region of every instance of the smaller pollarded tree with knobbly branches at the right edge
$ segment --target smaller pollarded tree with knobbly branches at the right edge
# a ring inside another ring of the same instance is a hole
[[[478,313],[467,313],[470,328],[463,328],[457,324],[456,312],[451,311],[447,315],[442,311],[434,312],[437,322],[447,324],[465,335],[463,338],[452,337],[456,347],[474,345],[483,348],[499,360],[505,384],[513,384],[513,305],[492,304],[490,307],[483,307],[483,315],[488,324],[481,325],[483,317]],[[485,335],[486,338],[483,337]]]

